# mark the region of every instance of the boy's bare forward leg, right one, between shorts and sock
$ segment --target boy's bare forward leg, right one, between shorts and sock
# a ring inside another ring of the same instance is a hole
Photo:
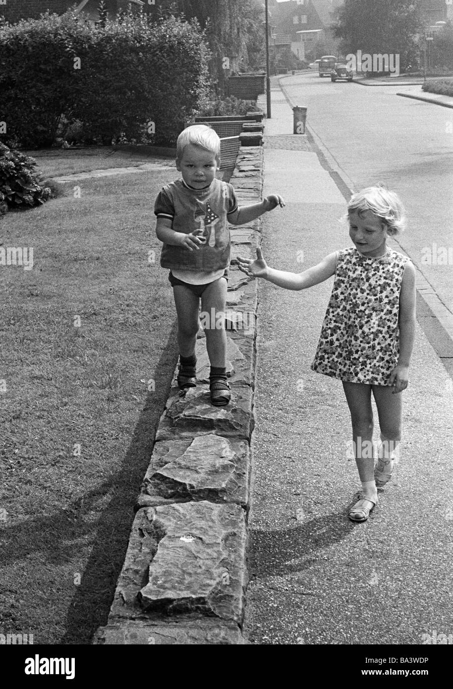
[[[209,314],[207,322],[210,327],[205,329],[206,348],[209,362],[213,367],[224,368],[227,365],[227,333],[225,332],[224,316],[227,303],[227,280],[214,280],[204,290],[201,296],[201,309]],[[213,309],[211,311],[211,309]],[[221,318],[211,318],[211,313],[222,314]],[[215,327],[221,320],[222,327]]]

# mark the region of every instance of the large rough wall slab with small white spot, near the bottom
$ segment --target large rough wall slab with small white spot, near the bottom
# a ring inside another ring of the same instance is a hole
[[[239,505],[202,501],[140,509],[108,622],[141,615],[140,621],[162,624],[162,615],[195,613],[242,624],[245,557]]]

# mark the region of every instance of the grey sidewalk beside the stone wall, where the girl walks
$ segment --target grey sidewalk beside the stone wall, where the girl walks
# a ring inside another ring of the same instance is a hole
[[[286,207],[266,215],[262,251],[299,272],[350,246],[338,223],[346,194],[291,134],[280,88],[271,95],[264,195],[282,194]],[[401,461],[368,522],[350,522],[360,483],[343,389],[310,371],[332,283],[293,292],[259,282],[244,633],[249,644],[422,644],[453,632],[452,380],[417,326]]]

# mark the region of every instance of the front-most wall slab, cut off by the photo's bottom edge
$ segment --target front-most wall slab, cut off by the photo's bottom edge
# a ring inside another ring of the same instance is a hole
[[[111,646],[213,646],[220,644],[245,644],[236,624],[221,621],[200,621],[196,626],[188,624],[146,624],[133,621],[129,624],[107,624],[94,635],[93,644]]]

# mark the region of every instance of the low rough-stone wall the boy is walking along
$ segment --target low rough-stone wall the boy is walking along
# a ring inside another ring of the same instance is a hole
[[[231,177],[240,205],[261,199],[262,162],[262,147],[240,149]],[[94,644],[244,643],[257,282],[234,257],[252,257],[259,244],[259,219],[231,228],[231,402],[211,405],[200,331],[198,385],[180,393],[175,371],[107,625]]]

